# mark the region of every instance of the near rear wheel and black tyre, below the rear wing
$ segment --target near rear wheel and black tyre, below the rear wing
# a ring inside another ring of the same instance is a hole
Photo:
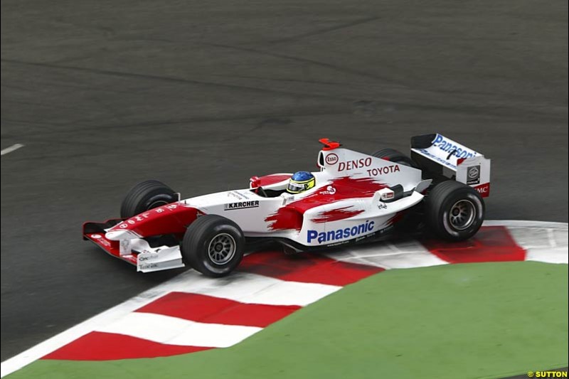
[[[457,181],[437,184],[425,198],[425,223],[437,237],[467,240],[484,221],[484,201],[474,188]]]

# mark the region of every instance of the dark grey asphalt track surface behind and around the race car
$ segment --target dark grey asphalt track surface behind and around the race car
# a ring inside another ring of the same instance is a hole
[[[1,359],[177,273],[80,238],[137,181],[434,131],[492,159],[487,218],[567,222],[567,1],[2,1]]]

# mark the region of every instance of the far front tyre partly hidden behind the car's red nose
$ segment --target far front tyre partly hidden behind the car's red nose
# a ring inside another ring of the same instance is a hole
[[[174,203],[178,196],[160,181],[143,181],[132,187],[120,206],[120,217],[131,218],[161,205]]]

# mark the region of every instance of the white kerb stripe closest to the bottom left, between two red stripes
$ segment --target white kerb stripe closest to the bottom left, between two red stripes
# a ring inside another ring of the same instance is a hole
[[[226,348],[252,336],[262,328],[254,326],[203,324],[177,317],[132,312],[97,331],[143,338],[181,346]]]

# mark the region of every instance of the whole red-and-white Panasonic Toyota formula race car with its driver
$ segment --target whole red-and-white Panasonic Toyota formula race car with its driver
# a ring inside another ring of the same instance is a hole
[[[411,157],[320,142],[320,171],[294,178],[253,176],[249,188],[186,200],[159,181],[139,183],[121,218],[85,223],[83,238],[138,271],[190,266],[221,277],[239,265],[245,243],[258,240],[302,252],[375,240],[410,220],[454,241],[482,225],[490,191],[490,160],[482,154],[440,134],[413,137]]]

